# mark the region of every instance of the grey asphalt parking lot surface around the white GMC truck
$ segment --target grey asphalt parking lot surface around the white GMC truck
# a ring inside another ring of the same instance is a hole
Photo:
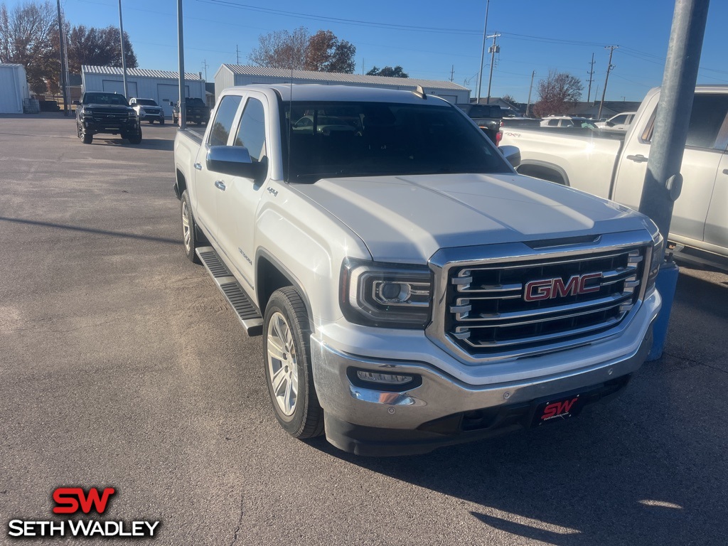
[[[726,544],[727,274],[681,270],[665,354],[614,402],[359,458],[280,429],[261,339],[183,255],[175,127],[143,132],[0,116],[0,544],[60,486],[114,487],[103,517],[163,545]]]

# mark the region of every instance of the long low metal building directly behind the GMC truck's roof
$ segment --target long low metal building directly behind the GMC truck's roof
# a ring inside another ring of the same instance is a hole
[[[414,90],[422,86],[428,95],[437,95],[451,103],[470,102],[470,90],[452,82],[432,79],[388,78],[384,76],[360,76],[336,72],[312,72],[305,70],[286,70],[284,68],[263,68],[261,66],[223,65],[215,74],[215,100],[226,87],[250,84],[326,84],[359,85],[363,87],[384,87],[387,89]]]

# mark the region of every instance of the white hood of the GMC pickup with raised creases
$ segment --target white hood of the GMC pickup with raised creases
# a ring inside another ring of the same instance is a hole
[[[521,175],[329,178],[293,187],[355,232],[376,261],[424,264],[440,248],[646,227],[627,207]]]

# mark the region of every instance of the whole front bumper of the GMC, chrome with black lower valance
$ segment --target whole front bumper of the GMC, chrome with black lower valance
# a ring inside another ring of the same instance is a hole
[[[362,357],[312,336],[314,384],[325,411],[326,436],[334,446],[360,455],[423,454],[527,427],[545,397],[570,392],[581,392],[591,401],[612,397],[644,363],[659,309],[660,297],[654,293],[618,339],[524,359],[531,366],[542,361],[539,376],[488,383],[482,373],[492,365],[472,366],[478,368],[480,384],[456,379],[432,364],[403,360],[396,352],[392,355],[397,360]],[[620,346],[624,351],[614,357],[614,347]],[[555,361],[572,365],[565,369]],[[518,368],[519,361],[512,365]],[[351,368],[422,381],[399,391],[363,387],[350,379]]]

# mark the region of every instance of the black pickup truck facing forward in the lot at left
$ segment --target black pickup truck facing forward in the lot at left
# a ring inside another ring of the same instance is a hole
[[[141,124],[134,108],[119,93],[87,91],[81,100],[74,100],[76,108],[76,135],[84,144],[93,141],[93,135],[108,133],[121,135],[130,144],[141,143]]]

